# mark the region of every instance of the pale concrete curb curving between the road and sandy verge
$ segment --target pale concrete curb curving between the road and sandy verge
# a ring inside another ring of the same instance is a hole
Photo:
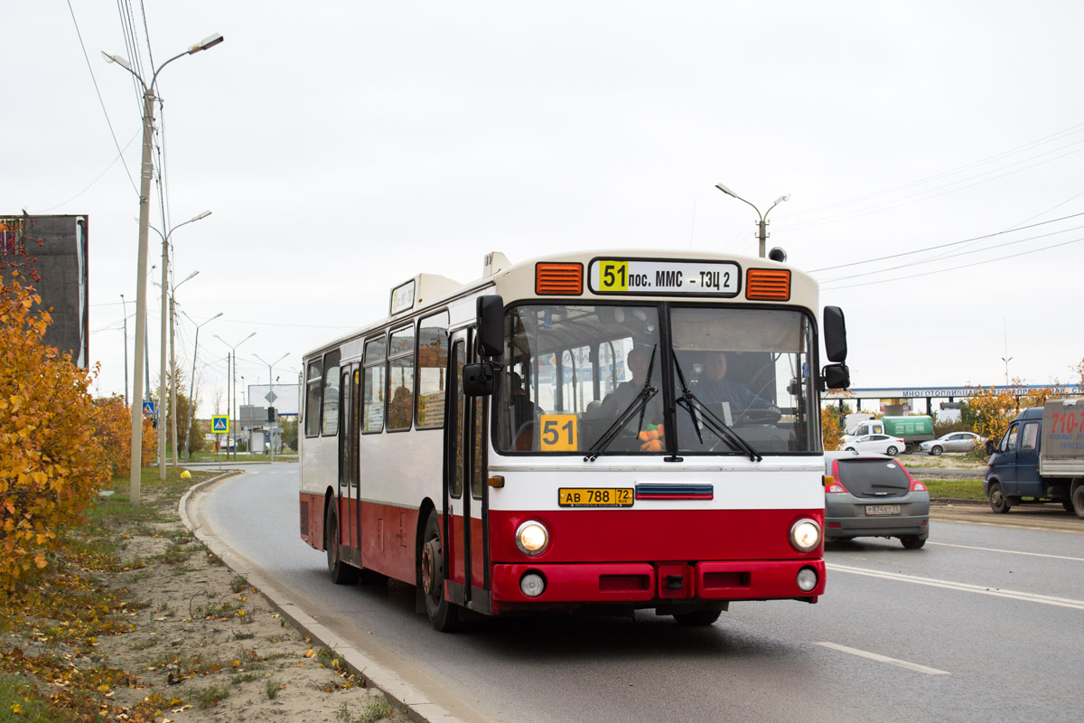
[[[178,513],[181,522],[198,539],[208,550],[218,556],[222,563],[234,572],[244,574],[248,584],[256,588],[271,606],[283,617],[288,619],[298,630],[309,635],[313,641],[324,645],[339,656],[351,671],[365,680],[367,687],[380,690],[388,700],[393,702],[406,715],[418,723],[465,723],[450,711],[436,702],[431,702],[426,695],[417,689],[413,684],[408,683],[397,673],[388,670],[384,666],[371,660],[363,653],[354,648],[346,641],[339,638],[333,631],[318,622],[301,609],[289,597],[276,589],[270,581],[266,580],[255,570],[248,567],[248,560],[234,554],[232,550],[221,544],[217,538],[208,535],[197,528],[189,517],[188,504],[194,493],[203,491],[211,485],[222,481],[229,477],[245,474],[243,470],[229,470],[212,477],[197,485],[193,485],[178,503]]]

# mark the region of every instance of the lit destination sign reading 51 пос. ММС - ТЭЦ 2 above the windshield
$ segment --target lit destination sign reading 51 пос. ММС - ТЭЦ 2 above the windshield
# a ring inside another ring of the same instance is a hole
[[[595,294],[737,296],[741,269],[733,261],[595,259],[588,271]]]

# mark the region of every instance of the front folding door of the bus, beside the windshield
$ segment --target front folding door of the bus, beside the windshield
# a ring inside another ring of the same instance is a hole
[[[463,395],[463,365],[478,361],[473,334],[452,335],[450,363],[455,384],[446,436],[444,558],[452,602],[491,611],[489,581],[489,487],[486,483],[487,401]]]

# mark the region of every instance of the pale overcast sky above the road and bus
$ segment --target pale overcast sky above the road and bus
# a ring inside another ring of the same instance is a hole
[[[158,77],[152,223],[214,211],[172,234],[175,281],[199,271],[179,308],[223,312],[199,333],[204,414],[225,387],[214,334],[256,332],[246,385],[268,379],[254,354],[288,353],[274,375],[293,380],[392,285],[468,282],[490,250],[756,254],[756,214],[718,182],[761,210],[792,194],[769,247],[846,311],[854,386],[1001,384],[1008,357],[1045,384],[1084,357],[1084,216],[1063,218],[1084,214],[1079,2],[7,5],[0,215],[89,215],[103,395],[125,386],[121,294],[132,363],[141,103],[101,51],[150,73],[147,35],[155,67],[225,37]]]

